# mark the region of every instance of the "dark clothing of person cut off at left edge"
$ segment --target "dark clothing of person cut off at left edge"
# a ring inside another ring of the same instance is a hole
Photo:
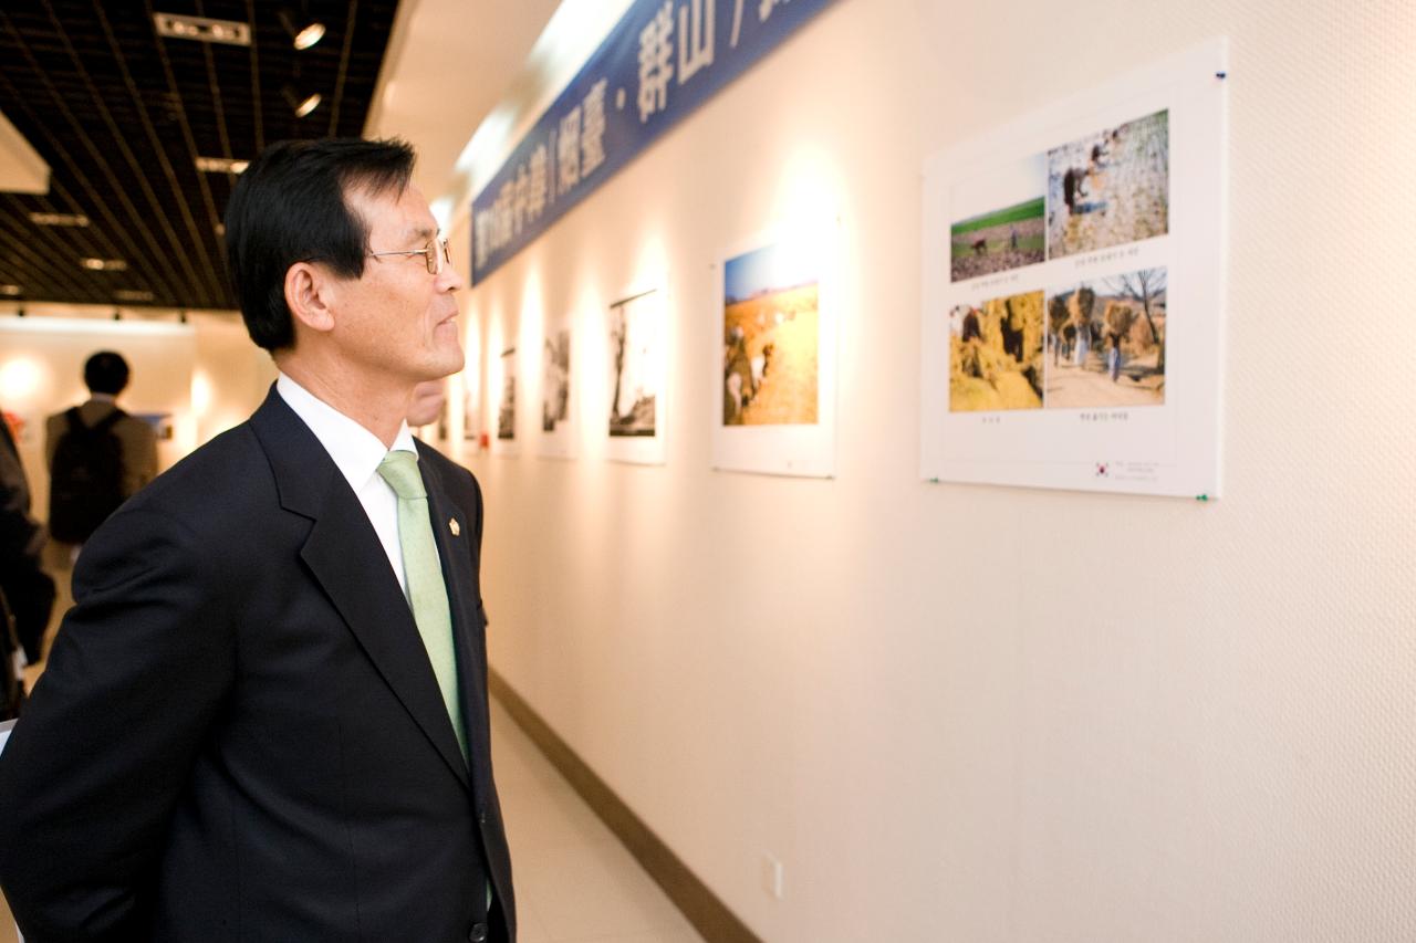
[[[40,660],[54,607],[54,581],[40,569],[45,539],[44,525],[30,515],[30,481],[20,463],[20,450],[10,426],[0,418],[0,592],[30,663]],[[8,663],[4,671],[10,673]]]

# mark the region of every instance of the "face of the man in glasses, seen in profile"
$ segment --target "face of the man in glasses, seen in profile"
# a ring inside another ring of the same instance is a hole
[[[370,252],[423,249],[438,235],[438,222],[416,187],[402,194],[346,193],[346,201],[368,225]],[[364,259],[364,275],[337,285],[333,340],[347,365],[370,379],[412,387],[462,370],[457,302],[463,287],[452,265],[430,275],[423,255]]]

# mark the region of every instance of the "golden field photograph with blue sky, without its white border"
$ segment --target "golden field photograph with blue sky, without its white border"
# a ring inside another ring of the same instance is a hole
[[[820,272],[782,242],[724,263],[722,423],[817,422]]]

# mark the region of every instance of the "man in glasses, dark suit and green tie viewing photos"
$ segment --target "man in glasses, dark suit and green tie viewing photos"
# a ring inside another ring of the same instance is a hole
[[[283,143],[231,197],[242,316],[280,378],[79,558],[0,758],[30,943],[515,939],[481,494],[404,422],[463,364],[412,161]]]

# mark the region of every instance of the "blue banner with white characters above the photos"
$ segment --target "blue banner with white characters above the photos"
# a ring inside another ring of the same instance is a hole
[[[831,0],[636,0],[472,201],[476,285]]]

